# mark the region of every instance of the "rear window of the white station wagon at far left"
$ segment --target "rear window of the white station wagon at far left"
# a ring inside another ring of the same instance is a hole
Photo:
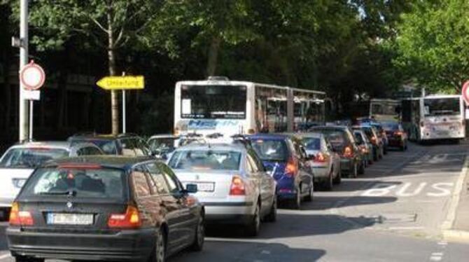
[[[15,148],[10,149],[1,158],[0,167],[30,167],[34,168],[48,160],[65,158],[69,151],[48,147]]]

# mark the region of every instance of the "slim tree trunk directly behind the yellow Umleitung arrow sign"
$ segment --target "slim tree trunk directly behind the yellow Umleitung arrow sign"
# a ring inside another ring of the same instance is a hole
[[[116,76],[116,50],[114,49],[114,32],[113,32],[113,19],[111,11],[108,11],[108,60],[109,60],[109,75]],[[111,124],[112,134],[118,135],[119,133],[119,107],[118,95],[116,90],[111,90]]]

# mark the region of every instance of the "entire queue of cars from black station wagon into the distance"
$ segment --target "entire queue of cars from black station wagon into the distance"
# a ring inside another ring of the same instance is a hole
[[[165,261],[181,249],[202,250],[207,225],[258,235],[262,222],[276,221],[278,205],[300,209],[317,187],[332,190],[343,175],[364,174],[388,146],[407,149],[399,124],[148,142],[78,134],[8,149],[0,207],[3,216],[10,209],[16,261]]]

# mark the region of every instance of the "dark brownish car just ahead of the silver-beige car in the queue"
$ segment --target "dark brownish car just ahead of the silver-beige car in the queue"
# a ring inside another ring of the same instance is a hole
[[[332,145],[332,149],[339,153],[342,172],[353,178],[358,177],[358,174],[365,173],[362,154],[349,127],[343,125],[319,126],[312,127],[309,131],[321,132],[325,135]]]

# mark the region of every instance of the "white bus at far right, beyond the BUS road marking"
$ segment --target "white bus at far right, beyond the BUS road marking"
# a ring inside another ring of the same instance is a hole
[[[431,95],[402,100],[402,126],[416,142],[465,137],[461,95]]]

